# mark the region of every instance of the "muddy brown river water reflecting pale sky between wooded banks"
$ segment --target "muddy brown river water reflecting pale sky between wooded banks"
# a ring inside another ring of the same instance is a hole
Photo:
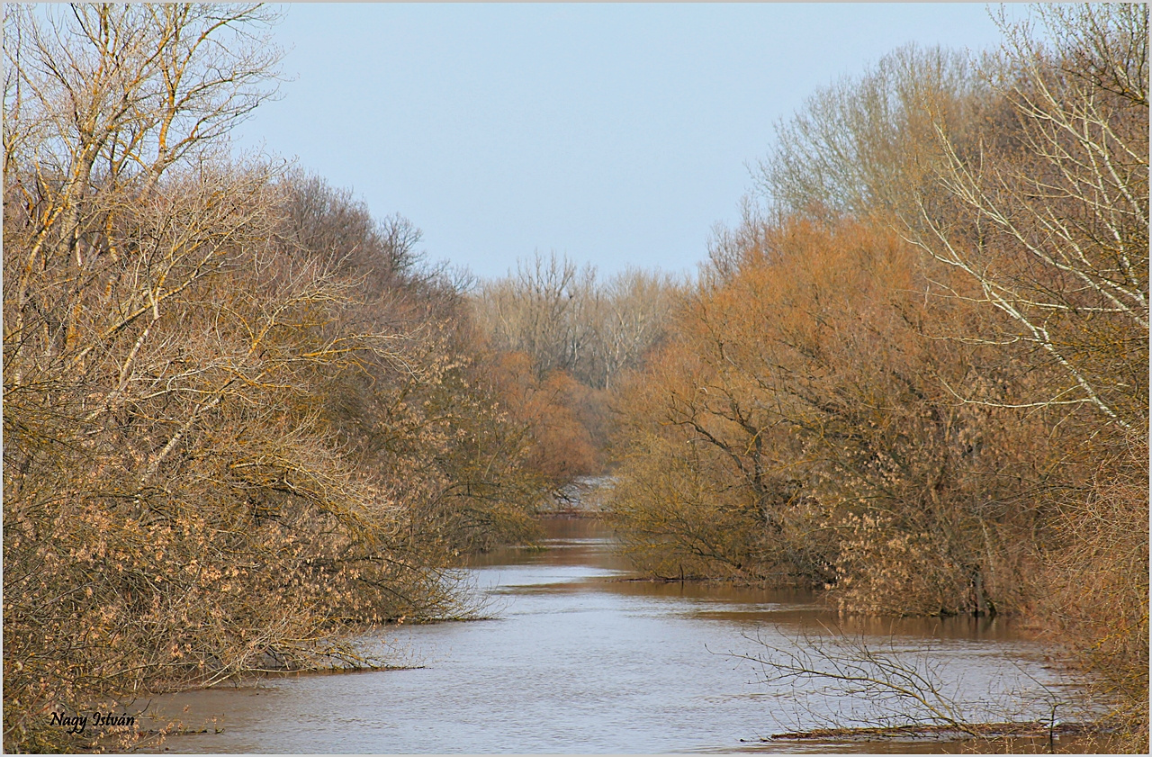
[[[827,681],[766,683],[760,666],[741,657],[763,657],[765,645],[834,642],[836,615],[801,592],[629,581],[598,522],[545,524],[545,550],[502,551],[468,568],[491,620],[393,627],[364,639],[385,645],[397,664],[422,667],[274,677],[159,697],[152,701],[159,717],[209,729],[170,736],[165,747],[289,754],[954,750],[925,742],[761,743],[774,733],[851,725],[890,710],[874,694]],[[1048,709],[1039,682],[1053,683],[1053,674],[1039,648],[995,619],[870,619],[841,627],[874,650],[934,667],[933,680],[949,698],[992,703],[988,717],[1040,717]]]

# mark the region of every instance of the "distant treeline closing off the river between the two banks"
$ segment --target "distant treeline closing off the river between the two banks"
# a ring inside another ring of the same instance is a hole
[[[530,460],[555,489],[606,470],[612,389],[660,345],[682,285],[536,253],[472,294],[509,410],[529,424]]]

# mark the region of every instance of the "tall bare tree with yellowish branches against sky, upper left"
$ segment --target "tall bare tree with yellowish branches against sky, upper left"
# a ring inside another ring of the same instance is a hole
[[[264,191],[253,174],[266,169],[204,160],[271,93],[276,51],[260,32],[273,17],[259,6],[197,5],[5,13],[5,359],[18,365],[35,350],[54,371],[83,373],[219,270],[223,242],[259,225],[266,203],[245,200]],[[149,225],[170,218],[161,176],[194,158],[202,167],[175,182],[203,202],[185,232],[150,239]],[[132,249],[118,242],[126,233]],[[123,304],[82,325],[84,298],[106,287]],[[94,333],[77,348],[85,326]],[[6,370],[6,394],[25,379],[23,368]]]

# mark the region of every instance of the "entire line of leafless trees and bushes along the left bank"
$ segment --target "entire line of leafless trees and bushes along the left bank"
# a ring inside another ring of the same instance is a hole
[[[229,129],[259,6],[5,7],[3,743],[259,671],[362,664],[533,536],[532,459],[461,281],[404,219]]]

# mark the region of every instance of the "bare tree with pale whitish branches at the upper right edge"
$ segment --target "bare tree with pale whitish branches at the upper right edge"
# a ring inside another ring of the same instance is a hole
[[[942,217],[920,194],[914,239],[975,285],[963,293],[1067,377],[1036,403],[1087,404],[1122,426],[1147,417],[1147,7],[1038,7],[1000,25],[984,65],[1006,107],[975,149],[934,113]],[[962,293],[955,293],[962,294]],[[982,398],[964,398],[982,401]],[[983,401],[987,401],[983,399]]]

